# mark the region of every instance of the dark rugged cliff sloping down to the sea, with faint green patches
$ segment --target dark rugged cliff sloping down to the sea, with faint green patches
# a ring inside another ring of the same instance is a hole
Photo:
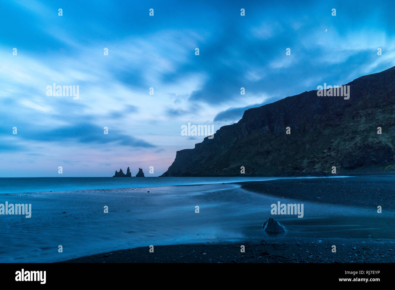
[[[395,172],[395,67],[346,85],[350,99],[314,90],[246,110],[213,139],[177,151],[162,176]]]

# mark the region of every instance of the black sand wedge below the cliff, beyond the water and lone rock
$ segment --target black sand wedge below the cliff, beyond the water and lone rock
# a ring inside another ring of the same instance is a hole
[[[383,212],[395,210],[395,185],[390,175],[278,179],[240,184],[244,189],[267,195],[372,209],[382,206]]]

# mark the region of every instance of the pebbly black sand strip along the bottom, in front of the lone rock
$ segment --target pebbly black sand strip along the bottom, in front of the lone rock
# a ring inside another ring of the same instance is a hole
[[[385,239],[270,238],[253,243],[158,245],[154,253],[149,246],[138,247],[58,263],[391,263],[394,250],[395,242]]]

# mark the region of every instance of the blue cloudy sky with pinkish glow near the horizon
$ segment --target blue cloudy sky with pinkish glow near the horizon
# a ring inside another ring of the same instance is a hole
[[[188,122],[393,67],[393,1],[345,2],[1,1],[0,177],[159,176]]]

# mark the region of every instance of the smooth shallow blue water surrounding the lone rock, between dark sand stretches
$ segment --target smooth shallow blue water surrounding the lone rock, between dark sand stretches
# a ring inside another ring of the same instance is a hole
[[[304,217],[274,216],[288,228],[277,241],[286,237],[395,239],[392,213],[378,215],[366,208],[279,198],[222,182],[4,193],[0,203],[5,201],[32,204],[32,216],[0,215],[0,262],[55,262],[134,247],[148,251],[150,245],[273,239],[261,226],[273,217],[270,205],[278,201],[303,203]],[[59,245],[63,253],[58,253]]]

